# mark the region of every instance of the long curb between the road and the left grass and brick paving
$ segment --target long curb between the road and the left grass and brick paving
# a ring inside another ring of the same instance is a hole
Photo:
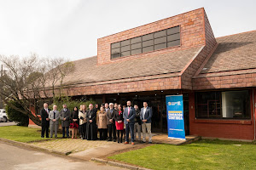
[[[21,145],[21,146],[25,146],[25,147],[36,149],[36,150],[48,151],[48,152],[58,154],[58,155],[62,155],[62,156],[67,156],[68,154],[70,154],[70,152],[61,152],[61,151],[56,151],[56,150],[44,149],[44,148],[40,148],[38,146],[34,146],[34,145],[31,145],[31,144],[26,144],[26,143],[14,141],[14,140],[9,140],[9,139],[0,138],[0,141],[15,144],[15,145]]]

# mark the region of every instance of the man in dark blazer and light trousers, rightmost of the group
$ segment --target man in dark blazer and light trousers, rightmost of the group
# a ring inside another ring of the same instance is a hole
[[[146,142],[146,128],[148,131],[148,144],[152,144],[152,134],[151,134],[151,117],[152,109],[148,107],[147,102],[143,102],[143,108],[141,109],[141,120],[143,122],[143,143]]]

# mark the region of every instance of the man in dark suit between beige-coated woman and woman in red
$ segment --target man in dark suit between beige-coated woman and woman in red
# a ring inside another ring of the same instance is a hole
[[[107,111],[108,141],[112,141],[112,138],[113,142],[116,141],[116,128],[113,116],[117,113],[118,111],[113,108],[113,103],[110,103],[109,110]]]

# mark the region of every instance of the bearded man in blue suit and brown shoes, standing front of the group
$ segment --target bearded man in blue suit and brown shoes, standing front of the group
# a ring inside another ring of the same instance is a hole
[[[127,107],[124,111],[125,119],[125,144],[129,144],[129,131],[131,133],[131,144],[134,145],[134,123],[135,123],[136,112],[133,107],[131,107],[131,101],[127,101]]]

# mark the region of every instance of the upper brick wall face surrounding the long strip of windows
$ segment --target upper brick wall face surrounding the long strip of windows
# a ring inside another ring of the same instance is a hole
[[[102,37],[97,40],[97,57],[98,65],[106,64],[109,62],[117,62],[125,59],[132,59],[136,57],[146,57],[148,54],[159,54],[165,50],[157,50],[145,54],[136,54],[132,56],[122,57],[119,59],[111,59],[110,44],[119,42],[132,37],[142,36],[154,31],[164,30],[173,26],[181,26],[181,47],[167,48],[166,50],[178,50],[181,48],[188,48],[199,46],[206,43],[204,8],[195,9],[188,13],[178,14],[176,16],[159,20],[144,26],[122,31],[108,37]]]

